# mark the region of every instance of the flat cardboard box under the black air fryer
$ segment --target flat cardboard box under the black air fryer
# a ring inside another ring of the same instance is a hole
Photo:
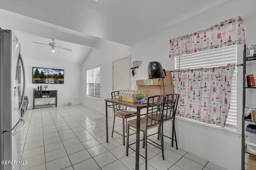
[[[153,85],[170,85],[172,81],[170,78],[152,78],[146,80],[136,80],[137,86],[153,86]]]

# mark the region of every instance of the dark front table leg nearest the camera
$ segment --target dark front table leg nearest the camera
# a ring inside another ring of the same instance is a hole
[[[140,159],[140,109],[137,109],[136,161],[135,161],[136,170],[139,170],[139,159]]]

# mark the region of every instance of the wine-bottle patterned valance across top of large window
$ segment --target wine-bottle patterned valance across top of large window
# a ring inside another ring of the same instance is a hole
[[[243,20],[238,16],[208,29],[170,39],[169,57],[244,43]]]

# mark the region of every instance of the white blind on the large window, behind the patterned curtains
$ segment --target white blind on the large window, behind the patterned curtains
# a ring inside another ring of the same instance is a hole
[[[186,69],[186,68],[208,68],[224,66],[226,64],[237,63],[237,45],[222,47],[219,49],[212,49],[208,51],[197,52],[188,55],[182,55],[175,57],[174,68]],[[237,98],[237,70],[235,67],[232,77],[232,90],[231,90],[231,103],[230,110],[228,112],[228,119],[226,126],[236,128],[237,114],[236,114],[236,98]]]

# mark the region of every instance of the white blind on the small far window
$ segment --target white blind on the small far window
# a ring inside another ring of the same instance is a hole
[[[86,71],[86,96],[100,98],[100,67]]]

